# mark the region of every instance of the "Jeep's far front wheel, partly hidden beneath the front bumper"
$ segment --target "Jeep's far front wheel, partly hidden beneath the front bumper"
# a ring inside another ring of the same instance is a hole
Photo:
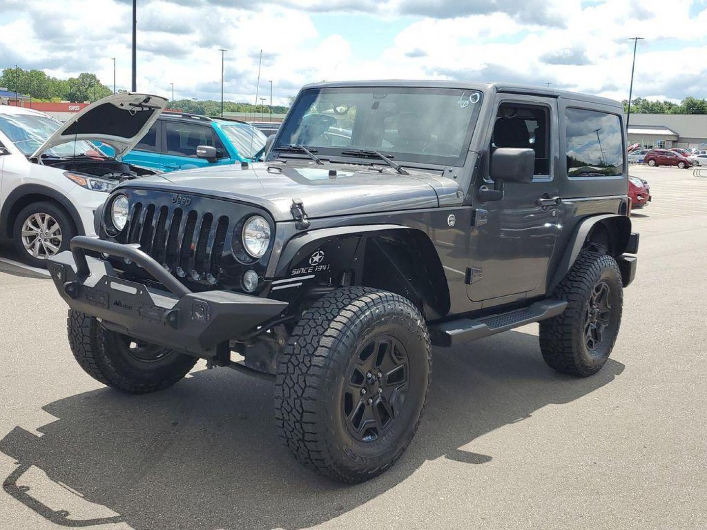
[[[197,358],[137,341],[101,326],[95,317],[69,310],[66,326],[74,358],[93,379],[129,394],[172,386]]]

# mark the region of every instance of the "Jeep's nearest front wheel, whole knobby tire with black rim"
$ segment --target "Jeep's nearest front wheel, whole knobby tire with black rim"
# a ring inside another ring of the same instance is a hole
[[[366,481],[412,440],[430,372],[427,326],[409,300],[336,290],[305,311],[279,359],[280,435],[302,464],[340,481]]]

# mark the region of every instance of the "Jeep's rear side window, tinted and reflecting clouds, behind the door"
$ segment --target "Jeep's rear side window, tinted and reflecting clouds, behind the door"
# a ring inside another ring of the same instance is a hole
[[[568,177],[618,176],[624,170],[621,120],[596,110],[565,110]]]

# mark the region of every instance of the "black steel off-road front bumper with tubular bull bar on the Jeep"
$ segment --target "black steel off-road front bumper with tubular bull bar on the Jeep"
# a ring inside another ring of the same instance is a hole
[[[119,278],[108,261],[86,250],[130,259],[167,290]],[[287,302],[212,290],[192,293],[136,245],[77,236],[71,252],[49,259],[49,273],[71,309],[102,320],[113,331],[201,358],[218,345],[273,319]]]

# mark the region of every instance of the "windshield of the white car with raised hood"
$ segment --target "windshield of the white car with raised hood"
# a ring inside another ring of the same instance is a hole
[[[33,114],[0,114],[0,131],[18,148],[23,155],[29,156],[37,151],[42,143],[54,134],[54,131],[62,126],[54,119]],[[87,141],[67,142],[59,146],[54,146],[47,150],[45,154],[58,157],[71,157],[74,155],[102,156]]]

